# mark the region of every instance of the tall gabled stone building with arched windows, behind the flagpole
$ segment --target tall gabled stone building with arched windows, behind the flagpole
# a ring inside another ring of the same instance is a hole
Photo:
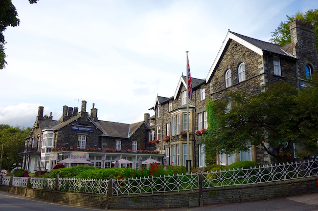
[[[286,46],[228,31],[206,79],[192,78],[195,96],[193,101],[189,101],[192,166],[205,166],[201,137],[193,135],[194,131],[207,127],[205,98],[228,100],[227,93],[238,90],[255,95],[265,91],[264,85],[278,81],[288,82],[301,89],[305,84],[304,79],[310,78],[318,71],[314,27],[299,20],[292,21],[289,26],[292,43]],[[176,165],[185,165],[182,162],[184,139],[181,136],[184,130],[182,126],[184,115],[186,115],[184,113],[184,96],[187,96],[184,92],[185,78],[181,77],[173,97],[157,97],[152,108],[156,113],[155,137],[159,139],[155,147],[170,157],[170,164],[173,162]],[[162,141],[167,135],[170,135],[170,141]],[[271,157],[261,146],[252,146],[249,151],[231,156],[226,154],[217,156],[217,163],[223,165],[239,160],[252,160],[260,164],[271,163]]]

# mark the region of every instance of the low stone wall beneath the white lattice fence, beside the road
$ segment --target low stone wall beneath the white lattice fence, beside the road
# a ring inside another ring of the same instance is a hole
[[[201,199],[199,190],[109,197],[100,194],[26,189],[5,185],[0,185],[0,190],[74,206],[107,207],[108,209],[125,210],[197,207],[221,203],[268,200],[318,192],[317,176],[281,182],[203,189]]]

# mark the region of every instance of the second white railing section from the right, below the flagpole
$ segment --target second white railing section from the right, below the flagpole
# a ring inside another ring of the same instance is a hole
[[[112,195],[158,193],[198,189],[198,174],[177,174],[172,176],[114,180]]]

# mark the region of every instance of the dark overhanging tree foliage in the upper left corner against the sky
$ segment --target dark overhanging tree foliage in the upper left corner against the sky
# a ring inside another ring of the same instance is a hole
[[[37,3],[38,0],[29,0],[31,4]],[[4,53],[4,40],[3,32],[8,26],[17,26],[20,24],[18,19],[18,13],[15,6],[12,4],[11,0],[1,0],[0,1],[0,69],[5,67],[6,55]]]

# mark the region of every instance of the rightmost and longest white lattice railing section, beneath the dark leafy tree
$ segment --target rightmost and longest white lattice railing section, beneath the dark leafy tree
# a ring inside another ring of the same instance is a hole
[[[232,169],[202,173],[203,188],[226,187],[284,181],[295,178],[318,175],[318,161],[287,163],[254,167],[250,169]]]

